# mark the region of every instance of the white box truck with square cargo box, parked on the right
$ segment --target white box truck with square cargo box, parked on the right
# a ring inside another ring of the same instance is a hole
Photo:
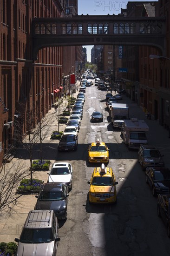
[[[124,120],[129,119],[129,107],[124,103],[112,103],[110,113],[113,127],[122,128]]]

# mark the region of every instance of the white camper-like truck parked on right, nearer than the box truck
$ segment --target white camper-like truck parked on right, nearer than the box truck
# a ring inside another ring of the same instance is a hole
[[[137,120],[137,118],[131,118],[131,120],[124,120],[122,135],[124,143],[129,148],[138,149],[140,145],[147,145],[146,132],[149,131],[148,125],[144,120]]]

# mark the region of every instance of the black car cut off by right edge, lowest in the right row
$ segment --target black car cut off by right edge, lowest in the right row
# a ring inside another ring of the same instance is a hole
[[[157,216],[162,217],[170,237],[170,194],[157,196]]]

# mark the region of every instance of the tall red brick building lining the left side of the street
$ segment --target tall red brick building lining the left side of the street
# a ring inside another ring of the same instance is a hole
[[[26,134],[26,112],[36,113],[35,123],[45,116],[65,89],[63,77],[82,61],[82,47],[43,48],[32,61],[32,18],[62,17],[66,6],[66,0],[0,1],[0,164],[13,146],[20,106]]]

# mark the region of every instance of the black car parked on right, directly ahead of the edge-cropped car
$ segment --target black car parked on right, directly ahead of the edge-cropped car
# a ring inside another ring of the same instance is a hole
[[[152,195],[170,193],[170,169],[148,167],[145,172],[146,183],[152,188]]]

